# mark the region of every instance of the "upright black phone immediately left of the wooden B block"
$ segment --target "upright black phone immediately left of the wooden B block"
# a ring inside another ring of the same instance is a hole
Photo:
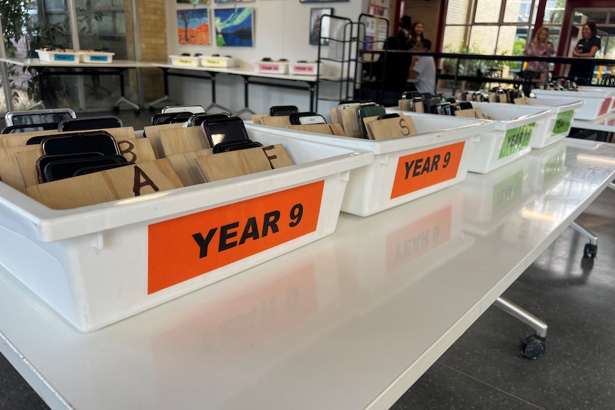
[[[103,155],[120,155],[115,138],[106,131],[89,133],[72,133],[48,135],[41,142],[44,155],[73,153],[102,153]]]

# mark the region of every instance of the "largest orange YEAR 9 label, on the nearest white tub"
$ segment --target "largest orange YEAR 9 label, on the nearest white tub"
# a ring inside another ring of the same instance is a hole
[[[316,230],[325,181],[148,227],[148,294]]]

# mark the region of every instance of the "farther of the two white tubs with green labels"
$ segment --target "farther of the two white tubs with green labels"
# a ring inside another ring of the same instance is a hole
[[[585,106],[583,100],[559,100],[552,98],[528,98],[529,105],[535,108],[549,109],[552,114],[547,118],[546,132],[536,133],[530,145],[543,148],[565,138],[570,133],[572,120],[576,113]]]

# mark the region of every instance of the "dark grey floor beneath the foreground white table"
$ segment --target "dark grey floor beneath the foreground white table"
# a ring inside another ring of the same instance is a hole
[[[151,117],[120,115],[137,129]],[[569,228],[504,293],[549,324],[544,357],[522,357],[517,342],[532,330],[491,307],[392,409],[615,409],[615,191],[577,221],[599,236],[593,263]],[[46,408],[0,356],[0,409]]]

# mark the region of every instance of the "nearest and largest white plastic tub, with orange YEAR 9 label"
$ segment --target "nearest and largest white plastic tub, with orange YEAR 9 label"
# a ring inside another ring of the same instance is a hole
[[[88,332],[330,235],[350,170],[374,155],[249,133],[282,143],[295,165],[72,210],[0,183],[1,265]],[[193,235],[212,230],[203,255]]]

